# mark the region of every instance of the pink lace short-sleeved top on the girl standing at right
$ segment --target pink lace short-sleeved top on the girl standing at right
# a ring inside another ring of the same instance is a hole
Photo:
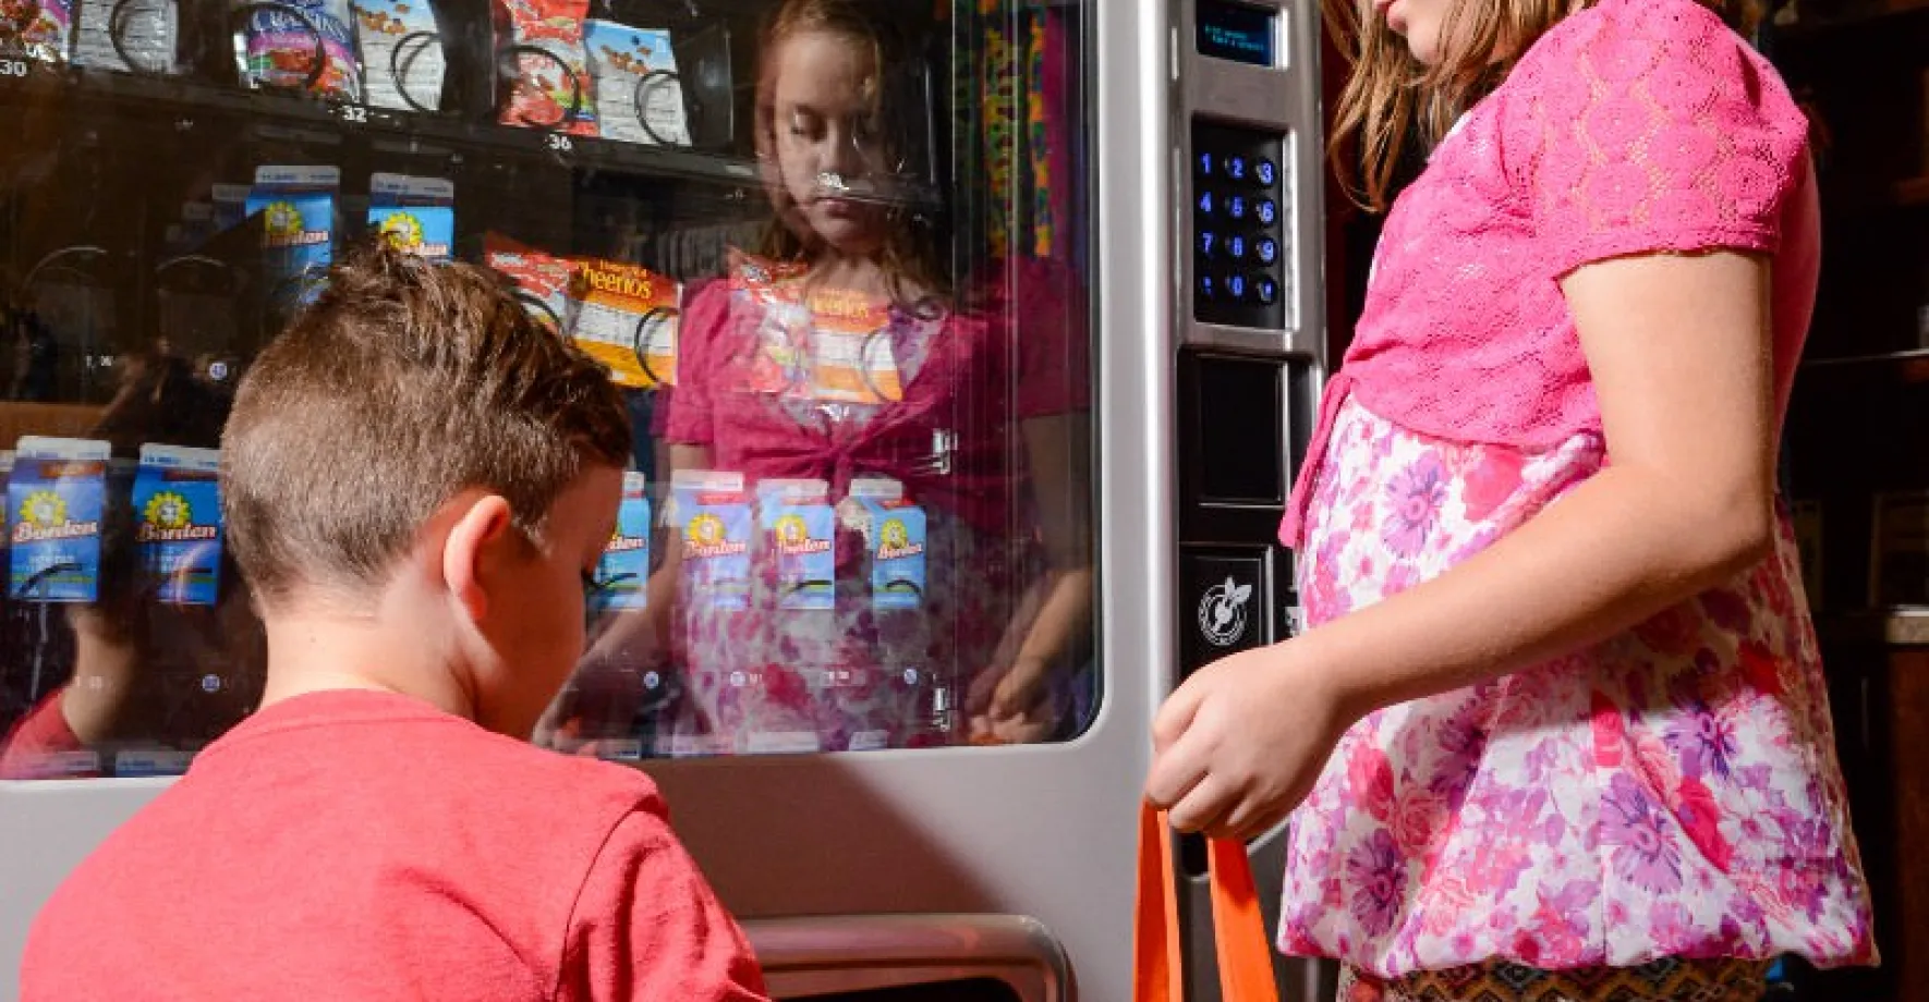
[[[1807,119],[1775,69],[1696,0],[1601,0],[1541,37],[1400,193],[1306,466],[1346,395],[1456,441],[1599,434],[1559,281],[1624,254],[1773,254],[1784,407],[1819,233]],[[1302,480],[1287,545],[1304,505]]]

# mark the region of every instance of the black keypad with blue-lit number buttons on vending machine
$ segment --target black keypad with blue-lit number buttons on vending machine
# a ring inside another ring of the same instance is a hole
[[[1279,133],[1192,123],[1192,316],[1285,328],[1285,179]]]

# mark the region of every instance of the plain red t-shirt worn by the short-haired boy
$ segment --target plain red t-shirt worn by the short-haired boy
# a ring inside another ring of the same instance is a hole
[[[35,921],[21,998],[758,1000],[635,769],[326,692],[210,744]]]

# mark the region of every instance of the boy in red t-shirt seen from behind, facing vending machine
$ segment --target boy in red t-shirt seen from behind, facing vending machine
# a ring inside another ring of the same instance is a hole
[[[530,748],[631,432],[486,272],[351,256],[222,439],[262,707],[62,886],[27,1002],[756,1000],[640,773]]]

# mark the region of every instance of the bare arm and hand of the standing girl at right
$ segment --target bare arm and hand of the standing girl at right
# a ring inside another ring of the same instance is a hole
[[[1562,281],[1611,462],[1439,578],[1196,672],[1154,723],[1146,796],[1252,836],[1377,707],[1607,640],[1759,563],[1773,538],[1769,264],[1711,252]]]

